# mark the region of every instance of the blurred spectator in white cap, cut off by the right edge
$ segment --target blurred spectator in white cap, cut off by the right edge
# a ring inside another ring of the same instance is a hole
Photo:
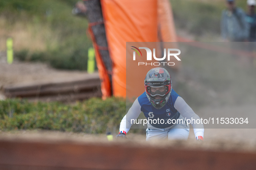
[[[251,42],[256,42],[256,14],[255,14],[255,0],[247,0],[248,12],[246,13],[246,22],[249,23],[249,38]]]

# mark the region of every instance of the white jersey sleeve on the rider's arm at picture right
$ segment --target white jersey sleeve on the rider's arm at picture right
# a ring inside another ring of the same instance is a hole
[[[188,104],[183,100],[183,98],[178,97],[175,101],[174,107],[176,110],[178,110],[179,113],[186,119],[190,120],[197,120],[200,119],[199,116],[194,113],[194,111],[191,109],[191,107],[188,106]],[[194,129],[194,135],[202,136],[204,137],[204,125],[203,124],[197,124],[195,121],[191,121],[191,125]]]

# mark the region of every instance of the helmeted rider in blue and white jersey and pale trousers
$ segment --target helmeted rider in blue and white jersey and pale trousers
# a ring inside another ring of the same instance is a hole
[[[126,138],[126,133],[134,123],[133,120],[136,120],[143,112],[146,118],[151,120],[147,123],[146,141],[151,139],[187,140],[189,125],[186,120],[200,118],[172,89],[169,72],[160,67],[150,69],[146,74],[144,86],[145,92],[136,98],[130,110],[123,117],[117,139]],[[178,122],[178,120],[180,121]],[[197,124],[195,121],[192,121],[191,124],[196,140],[203,141],[203,124]]]

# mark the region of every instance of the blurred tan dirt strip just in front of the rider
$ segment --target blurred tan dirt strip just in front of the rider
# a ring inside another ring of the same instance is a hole
[[[141,145],[144,147],[152,146],[162,148],[165,146],[177,146],[189,149],[207,149],[216,151],[242,151],[256,152],[256,137],[253,134],[256,130],[248,129],[205,129],[205,140],[199,144],[194,140],[193,132],[190,133],[188,141],[151,141],[146,142],[145,135],[127,134],[129,141],[116,141],[113,135],[113,141],[108,141],[106,135],[90,135],[73,132],[55,132],[55,131],[10,131],[0,132],[0,140],[17,140],[17,141],[35,141],[35,142],[63,142],[69,141],[74,143],[108,143],[128,142],[129,145]],[[239,134],[237,138],[222,138],[227,134]],[[251,135],[249,135],[251,134]]]

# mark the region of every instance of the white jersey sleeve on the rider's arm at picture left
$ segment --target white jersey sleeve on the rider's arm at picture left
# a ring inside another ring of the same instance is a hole
[[[139,117],[139,114],[141,113],[140,109],[141,106],[139,104],[138,98],[136,98],[132,107],[129,109],[120,123],[120,132],[125,131],[127,133],[130,130],[132,126],[131,120],[136,120]]]

